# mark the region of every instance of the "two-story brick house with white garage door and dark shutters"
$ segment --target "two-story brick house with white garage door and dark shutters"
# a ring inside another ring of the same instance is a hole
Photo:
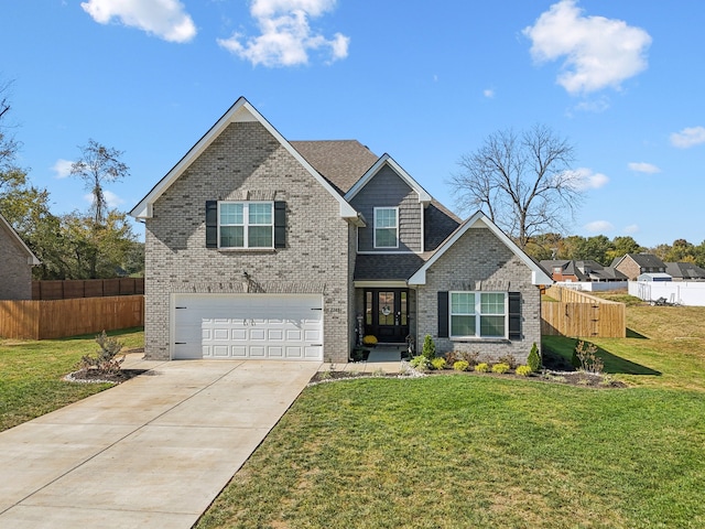
[[[132,209],[145,355],[348,361],[362,335],[527,358],[541,267],[460,222],[390,155],[288,141],[245,98]]]

